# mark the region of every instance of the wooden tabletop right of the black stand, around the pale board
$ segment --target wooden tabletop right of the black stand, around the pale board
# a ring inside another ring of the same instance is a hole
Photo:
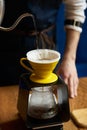
[[[78,96],[74,99],[69,99],[70,111],[87,108],[87,78],[79,79]],[[77,127],[71,119],[64,124],[64,130],[87,130],[87,128]]]

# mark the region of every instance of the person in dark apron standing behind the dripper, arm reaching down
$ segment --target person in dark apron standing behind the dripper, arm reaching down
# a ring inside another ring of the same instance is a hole
[[[27,3],[25,2],[23,3],[25,7],[22,6],[21,11],[20,10],[19,11],[20,13],[25,13],[27,11],[28,13],[34,16],[36,21],[37,32],[38,32],[39,48],[48,47],[51,49],[55,49],[56,48],[56,45],[54,45],[54,43],[56,43],[55,23],[56,23],[57,12],[62,2],[65,4],[65,22],[64,22],[65,26],[64,27],[66,31],[66,41],[65,41],[66,44],[65,44],[64,55],[62,57],[61,64],[57,72],[64,79],[65,83],[68,84],[70,97],[74,98],[75,96],[77,96],[77,87],[79,82],[78,74],[75,66],[76,50],[77,50],[80,34],[82,32],[82,24],[85,21],[84,10],[86,9],[86,1],[85,0],[77,0],[77,1],[76,0],[73,1],[71,0],[64,0],[64,1],[29,0]],[[20,5],[18,9],[20,9]],[[13,16],[17,17],[17,15],[12,14],[12,18]],[[8,23],[10,23],[10,19],[8,21],[9,21]],[[4,18],[2,25],[5,24],[7,23]],[[25,54],[27,51],[37,48],[35,26],[32,22],[32,18],[24,19],[24,21],[22,21],[20,25],[17,27],[17,30],[20,30],[17,31],[19,35],[24,34],[24,37],[22,37],[23,44],[21,47]]]

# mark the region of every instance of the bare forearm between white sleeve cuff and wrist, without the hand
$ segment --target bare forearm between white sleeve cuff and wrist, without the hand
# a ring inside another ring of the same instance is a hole
[[[76,59],[76,51],[79,43],[80,32],[73,29],[66,29],[66,44],[63,59]]]

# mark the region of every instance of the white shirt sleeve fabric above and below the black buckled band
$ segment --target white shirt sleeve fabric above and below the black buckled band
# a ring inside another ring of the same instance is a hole
[[[85,9],[87,8],[86,0],[63,0],[63,3],[65,4],[65,19],[72,19],[84,23]],[[65,25],[65,28],[82,31],[81,27],[73,25]]]

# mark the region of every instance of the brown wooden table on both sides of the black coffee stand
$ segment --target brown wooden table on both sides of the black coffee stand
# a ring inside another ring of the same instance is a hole
[[[84,98],[84,99],[83,99]],[[0,87],[0,127],[2,130],[26,130],[17,110],[18,85]],[[70,111],[87,108],[87,78],[81,78],[78,96],[69,99]],[[78,128],[72,120],[64,123],[64,130],[87,130]]]

